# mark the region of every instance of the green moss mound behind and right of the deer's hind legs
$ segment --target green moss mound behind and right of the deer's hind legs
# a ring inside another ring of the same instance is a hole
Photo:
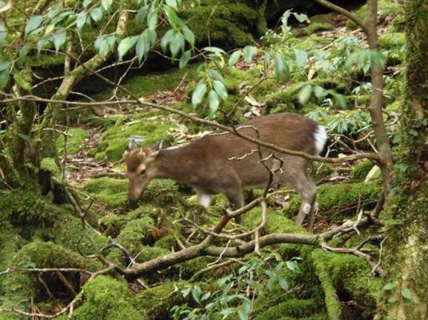
[[[344,216],[355,213],[359,202],[365,208],[374,207],[380,190],[379,182],[320,185],[317,188],[318,214],[327,214],[333,221],[342,220]],[[295,195],[282,212],[291,217],[297,214],[299,207],[300,196]]]

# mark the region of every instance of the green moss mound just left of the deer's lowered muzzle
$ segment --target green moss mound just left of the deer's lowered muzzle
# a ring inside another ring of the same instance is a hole
[[[123,210],[128,205],[128,181],[111,177],[89,180],[83,190],[90,193],[109,209]]]

